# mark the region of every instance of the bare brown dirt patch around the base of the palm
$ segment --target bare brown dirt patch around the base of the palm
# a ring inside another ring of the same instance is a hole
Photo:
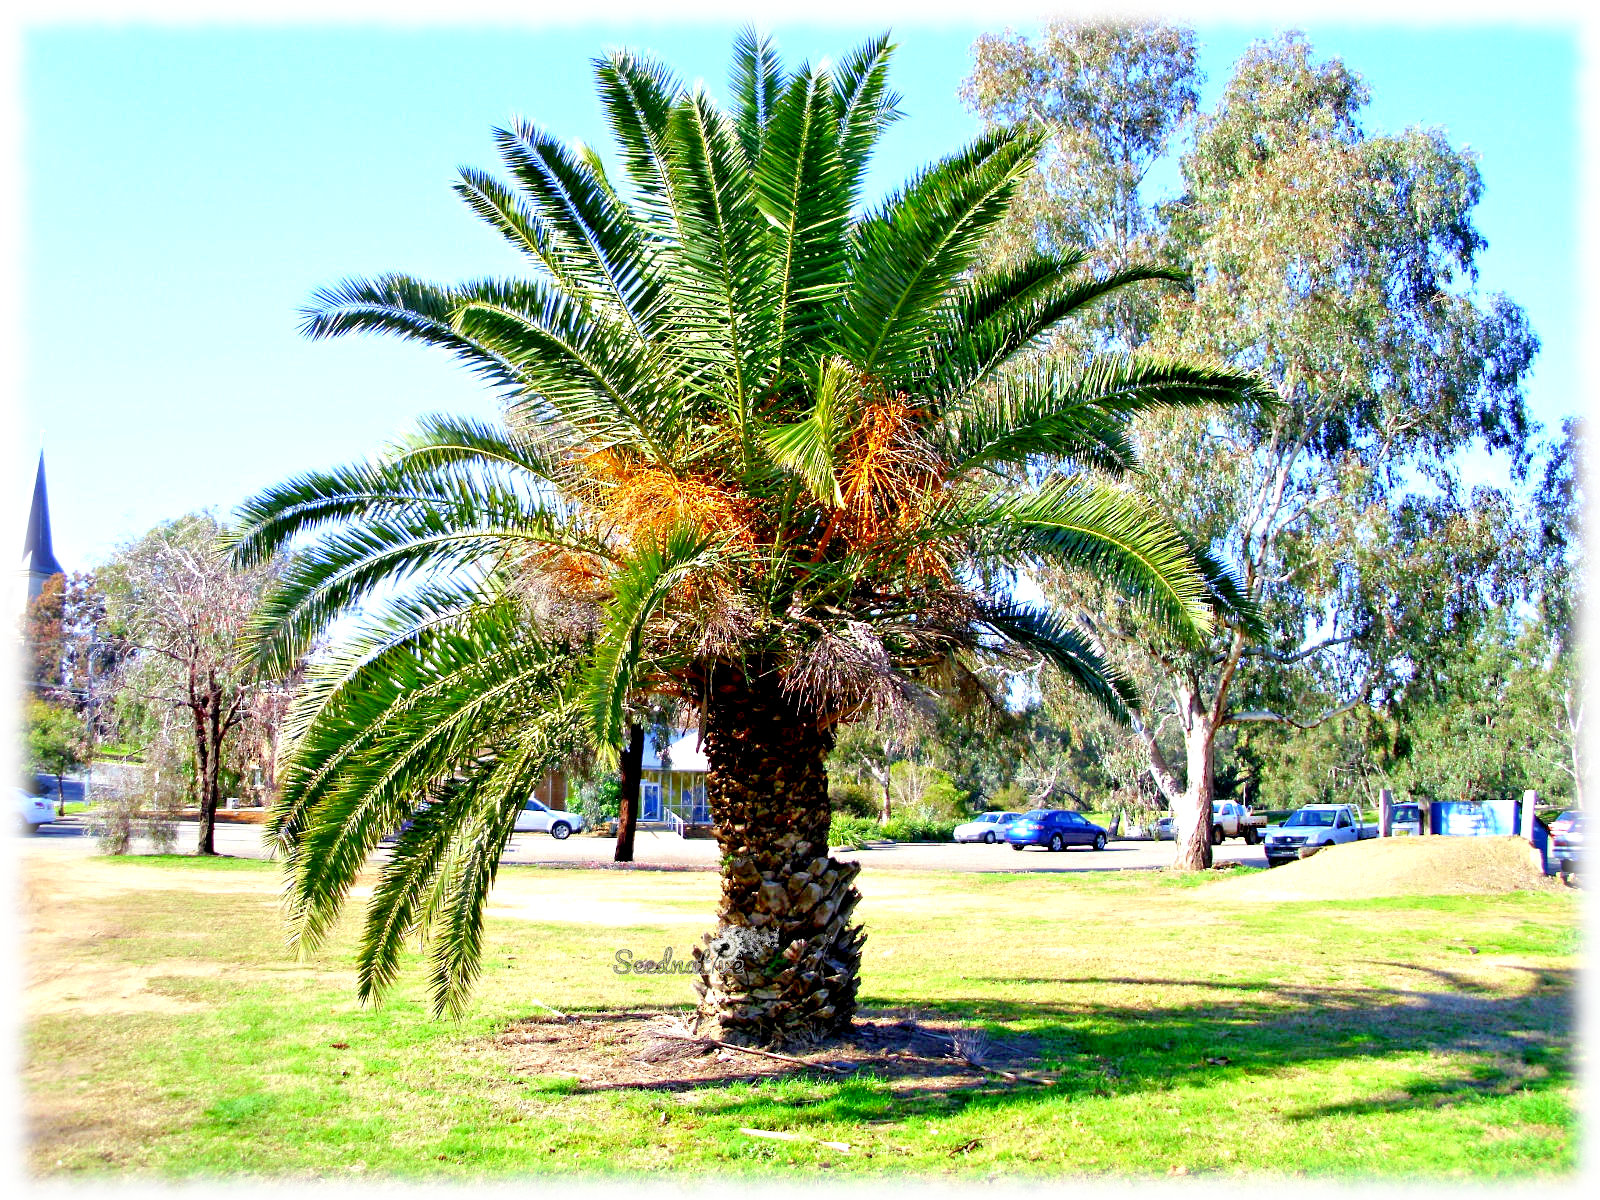
[[[526,1018],[496,1035],[493,1048],[517,1074],[565,1077],[574,1080],[578,1091],[685,1091],[790,1075],[843,1078],[858,1072],[888,1080],[896,1091],[1051,1082],[1034,1074],[1035,1046],[1027,1037],[986,1035],[902,1010],[862,1013],[845,1038],[784,1051],[798,1062],[669,1037],[680,1027],[664,1013]],[[982,1066],[963,1058],[962,1048]]]

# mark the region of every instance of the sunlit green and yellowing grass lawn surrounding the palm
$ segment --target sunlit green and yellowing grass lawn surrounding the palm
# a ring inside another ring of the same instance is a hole
[[[538,1003],[686,1006],[685,976],[614,954],[686,955],[710,872],[504,869],[461,1022],[427,1016],[418,970],[362,1010],[352,920],[288,957],[270,864],[32,858],[24,882],[43,1176],[1576,1171],[1570,894],[1245,904],[1162,872],[869,869],[862,1003],[1026,1035],[1056,1083],[606,1091],[518,1075],[493,1035]]]

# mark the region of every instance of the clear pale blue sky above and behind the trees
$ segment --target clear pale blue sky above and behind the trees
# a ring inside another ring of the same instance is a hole
[[[198,507],[224,512],[298,470],[362,458],[427,411],[491,413],[443,355],[382,339],[312,344],[296,310],[346,275],[451,280],[517,261],[450,192],[494,166],[522,114],[606,138],[589,59],[656,51],[722,88],[736,21],[536,27],[34,26],[21,40],[21,405],[8,504],[40,432],[69,570]],[[790,61],[886,22],[774,22]],[[886,189],[976,130],[955,90],[1005,22],[894,26],[906,120]],[[1014,21],[1019,29],[1029,22]],[[1571,27],[1304,22],[1373,90],[1366,125],[1443,126],[1478,150],[1480,286],[1528,312],[1530,387],[1554,430],[1578,411],[1578,35]],[[1198,24],[1205,102],[1267,24]],[[1493,474],[1493,472],[1490,472]],[[16,517],[21,534],[21,514]]]

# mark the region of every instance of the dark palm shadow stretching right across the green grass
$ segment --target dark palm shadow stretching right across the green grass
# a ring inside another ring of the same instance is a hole
[[[1078,1005],[982,997],[930,1003],[920,1010],[926,1018],[958,1021],[970,1021],[981,1011],[992,1035],[1026,1038],[1037,1048],[1037,1062],[1027,1069],[1056,1075],[1058,1082],[1048,1086],[1000,1078],[976,1086],[958,1083],[963,1074],[970,1080],[970,1069],[954,1061],[944,1072],[930,1070],[926,1078],[888,1078],[870,1069],[845,1078],[803,1070],[762,1077],[832,1083],[808,1094],[803,1106],[792,1107],[778,1094],[763,1094],[765,1090],[730,1088],[752,1077],[672,1080],[653,1086],[698,1093],[696,1107],[707,1115],[755,1118],[779,1106],[787,1109],[789,1125],[805,1126],[955,1114],[990,1114],[1003,1120],[1006,1110],[1043,1099],[1166,1091],[1224,1080],[1240,1083],[1251,1075],[1277,1075],[1318,1062],[1378,1062],[1416,1051],[1434,1059],[1426,1075],[1416,1074],[1358,1101],[1307,1106],[1280,1115],[1312,1122],[1341,1114],[1440,1109],[1485,1096],[1550,1091],[1571,1082],[1574,971],[1528,971],[1534,976],[1528,990],[1506,997],[1488,994],[1475,981],[1448,970],[1382,965],[1414,971],[1421,986],[1008,978],[986,982],[1197,987],[1211,992],[1213,998],[1194,1005]],[[1224,995],[1216,997],[1216,992]]]

